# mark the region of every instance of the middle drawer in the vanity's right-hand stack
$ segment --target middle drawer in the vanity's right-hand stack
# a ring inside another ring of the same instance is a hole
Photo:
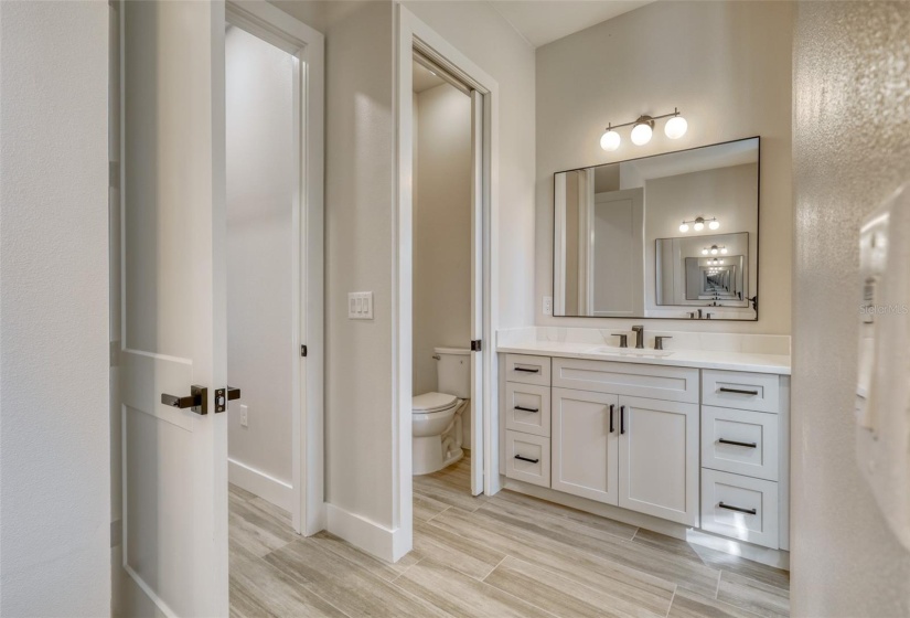
[[[767,412],[702,406],[702,466],[777,481],[778,419]]]

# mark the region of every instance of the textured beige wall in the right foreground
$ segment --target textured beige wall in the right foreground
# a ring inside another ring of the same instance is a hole
[[[858,228],[910,179],[910,3],[800,2],[793,49],[792,614],[908,616],[853,408]]]

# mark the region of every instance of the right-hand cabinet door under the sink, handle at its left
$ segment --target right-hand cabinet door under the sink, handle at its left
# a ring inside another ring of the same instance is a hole
[[[698,525],[698,406],[619,397],[619,505]]]

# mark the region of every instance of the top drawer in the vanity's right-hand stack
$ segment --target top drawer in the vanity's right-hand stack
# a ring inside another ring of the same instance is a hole
[[[780,377],[771,373],[706,369],[702,372],[702,403],[778,413],[780,412]]]

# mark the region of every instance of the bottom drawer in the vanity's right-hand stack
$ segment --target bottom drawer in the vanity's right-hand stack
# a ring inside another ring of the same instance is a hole
[[[777,550],[778,483],[702,470],[702,529]]]

